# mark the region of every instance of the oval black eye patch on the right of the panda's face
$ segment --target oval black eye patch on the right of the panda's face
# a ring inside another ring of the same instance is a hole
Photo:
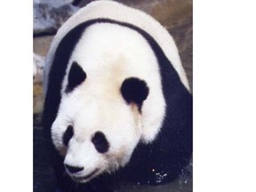
[[[92,143],[100,153],[106,153],[108,151],[108,140],[103,132],[95,132],[92,136]]]

